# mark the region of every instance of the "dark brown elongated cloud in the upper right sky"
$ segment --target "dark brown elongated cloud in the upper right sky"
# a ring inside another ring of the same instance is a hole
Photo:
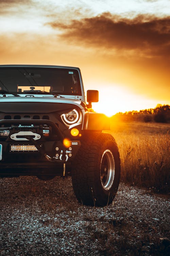
[[[61,30],[69,42],[117,50],[139,50],[152,56],[170,55],[170,16],[138,15],[133,19],[111,13],[72,20],[70,24],[48,23]]]

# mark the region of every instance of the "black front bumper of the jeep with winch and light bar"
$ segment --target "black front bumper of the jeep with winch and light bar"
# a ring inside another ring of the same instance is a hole
[[[41,126],[48,127],[49,134],[43,134]],[[63,164],[70,172],[81,146],[80,140],[68,139],[66,147],[64,135],[50,120],[0,120],[0,129],[7,131],[0,136],[0,176],[39,175],[41,170],[61,175]]]

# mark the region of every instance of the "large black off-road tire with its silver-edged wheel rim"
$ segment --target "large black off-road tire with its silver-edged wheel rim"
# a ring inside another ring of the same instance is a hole
[[[71,176],[80,203],[96,206],[111,203],[120,181],[120,155],[113,136],[88,133],[74,159]]]

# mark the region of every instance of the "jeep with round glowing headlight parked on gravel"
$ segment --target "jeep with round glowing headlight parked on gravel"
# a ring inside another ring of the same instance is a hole
[[[111,203],[120,181],[109,119],[88,111],[79,68],[0,65],[0,177],[71,175],[78,201]]]

